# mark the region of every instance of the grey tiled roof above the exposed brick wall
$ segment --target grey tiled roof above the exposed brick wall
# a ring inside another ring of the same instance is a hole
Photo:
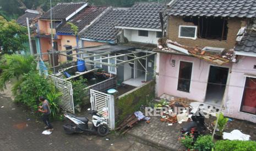
[[[255,18],[255,0],[172,0],[168,15]]]

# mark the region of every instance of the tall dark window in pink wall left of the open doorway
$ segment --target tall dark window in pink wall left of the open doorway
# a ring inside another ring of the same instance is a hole
[[[192,75],[192,62],[181,61],[179,63],[178,90],[189,92]]]

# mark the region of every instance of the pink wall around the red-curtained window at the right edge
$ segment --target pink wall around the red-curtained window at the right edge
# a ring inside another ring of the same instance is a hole
[[[243,96],[243,87],[246,81],[244,74],[256,74],[256,69],[253,69],[253,66],[256,65],[256,58],[239,56],[238,59],[237,63],[233,63],[232,72],[230,73],[230,86],[228,87],[228,96],[225,103],[225,107],[229,110],[226,112],[226,115],[228,117],[256,123],[256,115],[239,112]]]

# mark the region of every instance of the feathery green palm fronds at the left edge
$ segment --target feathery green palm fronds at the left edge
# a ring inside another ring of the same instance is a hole
[[[3,91],[6,88],[6,83],[9,80],[17,78],[17,82],[12,87],[13,94],[17,94],[19,85],[22,82],[21,77],[30,71],[35,71],[35,69],[36,63],[31,55],[3,55],[0,59],[0,70],[2,70],[0,74],[0,90]]]

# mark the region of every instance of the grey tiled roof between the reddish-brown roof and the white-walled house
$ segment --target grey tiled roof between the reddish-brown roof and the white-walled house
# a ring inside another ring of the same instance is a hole
[[[80,37],[94,40],[116,40],[117,35],[121,30],[115,28],[115,25],[120,16],[122,16],[126,10],[127,9],[123,8],[111,8],[88,29],[82,31],[80,33]]]

